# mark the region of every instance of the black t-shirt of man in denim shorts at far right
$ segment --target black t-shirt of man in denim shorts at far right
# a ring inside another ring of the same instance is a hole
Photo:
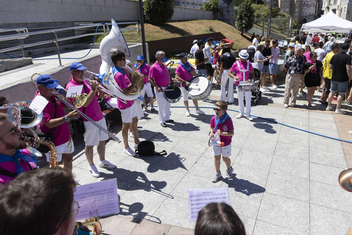
[[[332,64],[332,76],[331,81],[345,82],[351,78],[348,78],[346,65],[351,66],[351,56],[346,53],[338,53],[331,57],[330,64]]]

